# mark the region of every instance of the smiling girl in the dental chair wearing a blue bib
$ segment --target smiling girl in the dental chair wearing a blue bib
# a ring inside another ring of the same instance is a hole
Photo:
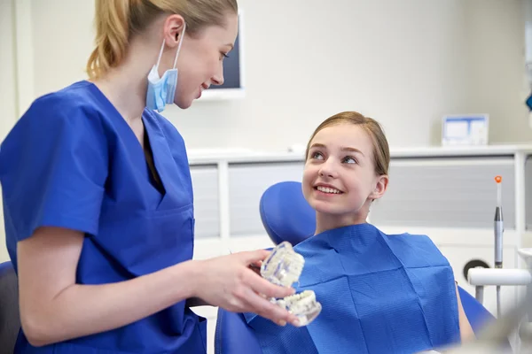
[[[316,233],[294,250],[305,258],[297,290],[314,290],[323,310],[307,327],[246,315],[264,353],[414,353],[473,336],[434,243],[366,223],[387,190],[389,160],[374,119],[342,112],[317,127],[302,180]]]

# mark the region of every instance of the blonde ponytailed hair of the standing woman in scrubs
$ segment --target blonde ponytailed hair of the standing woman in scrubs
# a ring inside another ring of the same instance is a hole
[[[207,26],[223,27],[228,12],[239,12],[237,0],[96,0],[96,48],[87,73],[97,79],[120,65],[131,36],[163,13],[183,16],[187,35],[195,35]]]

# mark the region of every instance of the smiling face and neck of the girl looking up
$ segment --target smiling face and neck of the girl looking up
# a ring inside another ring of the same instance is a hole
[[[320,130],[309,144],[302,189],[317,211],[320,231],[365,222],[373,199],[387,188],[387,176],[375,173],[373,141],[354,124]]]

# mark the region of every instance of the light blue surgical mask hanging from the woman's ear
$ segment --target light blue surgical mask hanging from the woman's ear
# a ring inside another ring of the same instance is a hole
[[[174,103],[174,96],[176,96],[177,87],[177,57],[179,57],[179,50],[183,44],[184,30],[181,34],[181,39],[177,45],[176,58],[174,59],[174,67],[167,70],[159,77],[160,58],[162,57],[162,50],[164,50],[164,40],[160,47],[159,58],[157,64],[153,65],[152,70],[148,74],[148,90],[146,92],[146,107],[157,112],[164,111],[167,104]]]

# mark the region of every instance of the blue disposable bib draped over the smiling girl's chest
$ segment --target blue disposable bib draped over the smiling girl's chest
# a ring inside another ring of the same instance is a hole
[[[264,354],[410,354],[459,342],[454,275],[427,236],[361,224],[294,250],[305,258],[297,292],[314,290],[323,310],[307,327],[246,313]]]

